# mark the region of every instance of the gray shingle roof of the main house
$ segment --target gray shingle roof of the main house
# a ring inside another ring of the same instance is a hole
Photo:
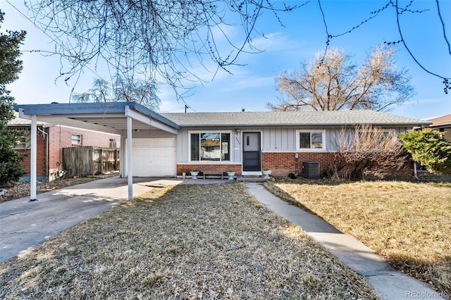
[[[229,113],[161,113],[182,127],[373,125],[421,126],[430,122],[379,111],[265,111]]]

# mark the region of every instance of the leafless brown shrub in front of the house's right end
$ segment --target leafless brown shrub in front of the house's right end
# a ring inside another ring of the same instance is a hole
[[[368,124],[343,127],[336,148],[330,175],[343,180],[385,177],[408,162],[407,151],[395,132]]]

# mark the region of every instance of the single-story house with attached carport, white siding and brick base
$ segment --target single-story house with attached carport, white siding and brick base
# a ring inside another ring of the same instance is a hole
[[[121,136],[121,176],[175,177],[198,170],[236,175],[295,172],[304,161],[321,169],[333,159],[342,127],[372,124],[395,133],[428,125],[378,111],[155,113],[135,102],[16,105],[21,118]]]

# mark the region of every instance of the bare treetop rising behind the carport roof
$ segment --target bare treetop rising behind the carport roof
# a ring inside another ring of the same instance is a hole
[[[156,91],[156,85],[152,80],[127,80],[118,75],[114,84],[100,78],[95,79],[92,89],[83,93],[73,93],[72,100],[75,102],[135,101],[158,111],[160,99]]]

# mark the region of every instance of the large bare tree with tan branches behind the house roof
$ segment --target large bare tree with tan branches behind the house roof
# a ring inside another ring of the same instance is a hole
[[[360,67],[340,49],[329,49],[304,62],[294,73],[277,77],[278,91],[285,96],[273,111],[385,111],[414,95],[406,70],[396,70],[393,47],[378,46]]]

